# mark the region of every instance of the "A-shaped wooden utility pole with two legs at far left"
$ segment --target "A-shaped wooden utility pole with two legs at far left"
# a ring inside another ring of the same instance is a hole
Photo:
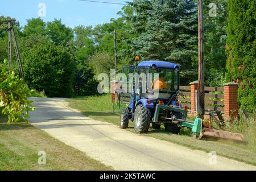
[[[13,28],[13,22],[15,22],[15,21],[16,21],[15,19],[3,20],[3,22],[7,22],[8,23],[9,67],[11,67],[11,65],[12,65],[12,58],[11,58],[11,36],[13,36],[13,43],[14,43],[16,58],[17,58],[17,61],[18,61],[19,74],[20,74],[20,77],[22,77],[23,80],[24,80],[22,61],[20,60],[19,48],[18,48],[18,44],[17,44],[17,41],[16,41],[16,36],[15,36],[14,28]]]

